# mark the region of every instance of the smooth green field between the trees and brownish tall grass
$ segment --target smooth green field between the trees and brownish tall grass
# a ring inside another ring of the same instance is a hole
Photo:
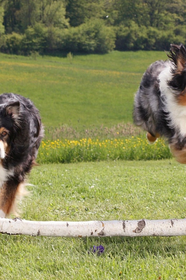
[[[31,98],[46,127],[111,127],[132,121],[133,95],[146,68],[164,52],[31,57],[0,54],[2,92]]]

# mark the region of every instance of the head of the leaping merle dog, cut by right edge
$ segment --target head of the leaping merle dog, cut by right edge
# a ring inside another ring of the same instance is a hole
[[[170,52],[167,53],[171,61],[171,73],[173,74],[168,85],[179,95],[180,104],[186,105],[186,49],[181,45],[171,44]],[[184,98],[183,98],[184,96]]]

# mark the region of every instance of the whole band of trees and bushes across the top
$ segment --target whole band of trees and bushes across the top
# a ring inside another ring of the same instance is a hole
[[[0,0],[0,51],[107,53],[186,43],[185,0]]]

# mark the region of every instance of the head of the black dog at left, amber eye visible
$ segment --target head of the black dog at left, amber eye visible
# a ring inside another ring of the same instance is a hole
[[[10,150],[12,139],[20,128],[19,101],[0,104],[0,159],[4,159]]]

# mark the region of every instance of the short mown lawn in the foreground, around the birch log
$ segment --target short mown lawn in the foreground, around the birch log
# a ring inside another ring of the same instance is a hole
[[[31,172],[29,220],[184,218],[185,165],[175,160],[51,164]],[[186,279],[185,237],[0,235],[0,279]],[[87,251],[103,245],[97,256]]]

